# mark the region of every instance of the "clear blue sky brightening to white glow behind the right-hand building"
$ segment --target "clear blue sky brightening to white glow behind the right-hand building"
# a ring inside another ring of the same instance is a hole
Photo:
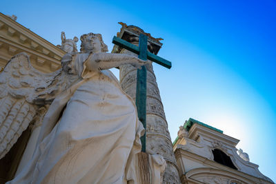
[[[119,21],[164,39],[154,64],[172,141],[189,117],[239,140],[276,181],[276,1],[6,1],[3,14],[57,45],[101,33],[112,50]],[[80,45],[80,41],[78,43]],[[117,74],[117,70],[112,70]]]

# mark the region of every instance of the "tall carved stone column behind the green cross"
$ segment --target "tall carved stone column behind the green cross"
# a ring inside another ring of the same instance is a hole
[[[133,33],[131,35],[131,32]],[[124,26],[119,33],[121,39],[125,39],[132,44],[139,44],[139,34],[144,32],[136,26]],[[150,36],[150,34],[148,34]],[[149,37],[149,42],[152,40]],[[158,41],[158,40],[157,40]],[[154,50],[154,43],[148,43],[150,52],[157,54],[158,50]],[[161,48],[161,46],[160,46]],[[136,55],[128,50],[119,47],[113,48],[112,52],[121,54]],[[161,66],[160,66],[161,67]],[[153,71],[152,65],[147,65],[147,112],[146,112],[146,152],[148,154],[161,154],[166,160],[167,167],[163,176],[163,183],[180,183],[177,171],[175,154],[172,150],[172,141],[168,132],[168,123],[164,113],[163,104],[161,102],[159,89]],[[131,65],[124,65],[120,68],[120,84],[121,88],[132,97],[135,101],[137,69]]]

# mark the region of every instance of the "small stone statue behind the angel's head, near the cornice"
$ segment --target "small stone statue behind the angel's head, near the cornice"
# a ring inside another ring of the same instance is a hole
[[[61,45],[57,45],[57,47],[66,53],[77,52],[77,41],[79,41],[77,37],[66,39],[65,32],[61,32]]]

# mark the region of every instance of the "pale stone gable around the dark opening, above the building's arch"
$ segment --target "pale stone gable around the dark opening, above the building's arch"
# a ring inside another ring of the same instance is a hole
[[[174,145],[175,157],[177,159],[177,165],[181,167],[181,174],[188,172],[191,168],[195,169],[201,165],[200,167],[214,167],[221,170],[231,170],[268,181],[268,183],[272,182],[270,178],[259,172],[258,165],[250,163],[249,161],[244,161],[244,159],[237,154],[235,145],[237,145],[238,141],[239,140],[233,137],[210,130],[203,125],[194,124],[189,131],[188,138],[183,137],[178,139]],[[213,161],[214,156],[212,150],[215,149],[219,149],[227,156],[230,156],[237,170],[233,170],[230,167]],[[187,163],[185,163],[187,161],[192,161],[195,165],[187,165]]]

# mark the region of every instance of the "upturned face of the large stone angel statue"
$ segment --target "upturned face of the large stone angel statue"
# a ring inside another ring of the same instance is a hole
[[[101,41],[99,41],[99,38],[94,35],[87,37],[82,44],[86,52],[101,52]]]

